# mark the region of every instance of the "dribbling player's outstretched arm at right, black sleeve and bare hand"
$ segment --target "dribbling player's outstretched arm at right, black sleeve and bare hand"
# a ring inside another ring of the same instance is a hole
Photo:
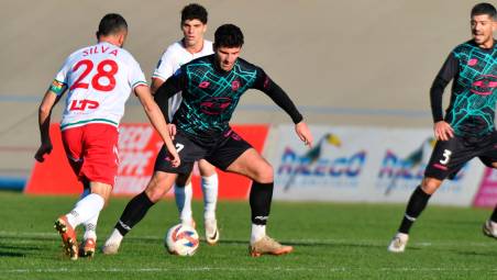
[[[258,77],[255,81],[254,88],[266,93],[279,108],[281,108],[295,123],[295,132],[298,137],[309,147],[312,146],[313,137],[303,122],[303,117],[295,107],[288,94],[274,82],[262,69],[257,70]]]

